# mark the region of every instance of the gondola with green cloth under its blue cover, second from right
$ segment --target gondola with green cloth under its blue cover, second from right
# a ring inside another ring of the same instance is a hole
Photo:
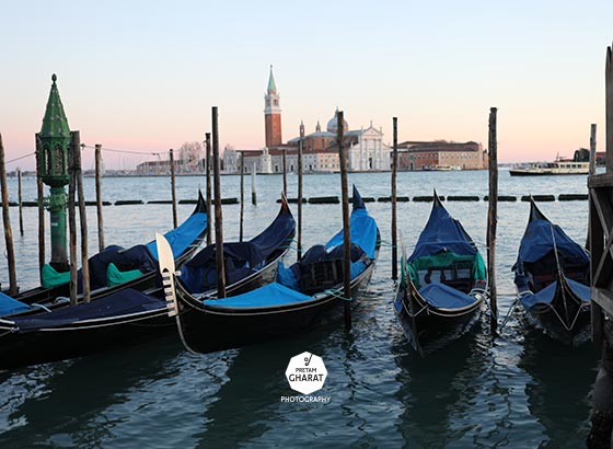
[[[413,254],[401,261],[394,310],[410,345],[426,356],[466,333],[488,293],[485,263],[435,192]]]

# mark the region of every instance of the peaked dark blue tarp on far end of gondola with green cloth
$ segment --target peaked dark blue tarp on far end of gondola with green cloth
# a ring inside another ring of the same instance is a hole
[[[449,251],[459,255],[477,253],[473,240],[466,233],[460,221],[453,219],[447,209],[435,199],[430,218],[419,234],[417,244],[408,262],[425,255],[435,255],[441,251]]]

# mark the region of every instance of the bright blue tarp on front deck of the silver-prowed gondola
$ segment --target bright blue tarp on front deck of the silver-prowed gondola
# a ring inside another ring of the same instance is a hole
[[[253,307],[274,307],[293,302],[309,301],[313,299],[308,295],[302,295],[291,288],[273,283],[247,293],[233,296],[224,299],[208,299],[206,306],[218,306],[229,308],[253,308]]]

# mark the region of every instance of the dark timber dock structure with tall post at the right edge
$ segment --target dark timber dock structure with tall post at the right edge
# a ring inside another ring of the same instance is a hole
[[[601,348],[588,448],[609,448],[613,428],[613,57],[605,60],[605,173],[590,174],[589,243],[591,272],[592,338]]]

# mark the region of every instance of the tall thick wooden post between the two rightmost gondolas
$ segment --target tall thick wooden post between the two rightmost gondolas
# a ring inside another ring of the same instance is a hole
[[[498,141],[496,134],[496,107],[489,108],[489,209],[487,211],[487,279],[489,283],[489,329],[498,327],[498,302],[496,299],[496,227],[498,223]]]

